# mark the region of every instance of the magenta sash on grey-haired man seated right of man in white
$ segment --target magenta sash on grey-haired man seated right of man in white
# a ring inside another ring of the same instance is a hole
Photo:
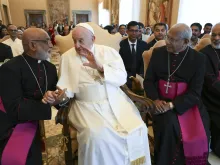
[[[170,82],[171,87],[166,93],[166,84],[167,82],[164,80],[159,81],[159,93],[165,99],[174,100],[175,97],[187,91],[186,83]],[[208,139],[198,106],[193,106],[184,114],[177,115],[177,117],[181,129],[186,165],[207,165]]]

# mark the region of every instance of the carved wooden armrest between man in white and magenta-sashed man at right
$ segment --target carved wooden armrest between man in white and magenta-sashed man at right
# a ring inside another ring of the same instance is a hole
[[[139,96],[137,94],[135,94],[134,92],[132,92],[127,85],[123,85],[121,86],[121,90],[135,103],[140,104],[140,108],[139,111],[140,112],[144,112],[144,113],[148,113],[148,112],[153,112],[156,109],[156,106],[154,104],[154,102],[149,99],[146,98],[144,96]]]

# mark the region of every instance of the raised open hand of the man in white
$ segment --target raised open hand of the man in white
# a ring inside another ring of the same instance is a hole
[[[89,66],[93,69],[97,69],[100,72],[103,72],[103,67],[99,66],[95,60],[94,54],[87,48],[81,46],[81,56],[84,56],[89,61],[88,63],[84,63],[84,66]]]

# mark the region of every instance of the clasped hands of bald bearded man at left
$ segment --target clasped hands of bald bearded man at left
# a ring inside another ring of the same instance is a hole
[[[66,98],[66,89],[60,89],[57,87],[55,91],[47,91],[42,99],[44,104],[57,105]]]

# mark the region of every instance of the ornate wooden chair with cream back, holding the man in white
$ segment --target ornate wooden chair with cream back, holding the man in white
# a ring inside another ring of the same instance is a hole
[[[97,44],[107,45],[107,46],[115,48],[117,51],[119,50],[119,43],[121,41],[120,35],[111,35],[107,31],[100,28],[98,25],[94,23],[89,23],[89,24],[93,27],[95,31]],[[56,36],[55,40],[61,53],[64,53],[65,51],[69,50],[73,46],[71,34],[65,37]],[[66,43],[71,43],[71,44],[66,44]],[[126,85],[122,86],[121,89],[125,92],[125,94],[128,95],[128,97],[132,101],[135,102],[139,111],[141,112],[141,116],[143,120],[145,120],[144,116],[146,112],[155,109],[154,103],[150,99],[133,93],[131,90],[127,88]],[[69,104],[71,103],[72,101],[69,102]],[[77,130],[69,125],[69,121],[68,121],[69,108],[68,107],[69,105],[66,105],[66,107],[58,111],[57,116],[56,116],[56,123],[60,123],[63,125],[62,149],[65,151],[66,165],[73,165],[73,164],[76,164],[76,160],[77,160],[77,149],[78,149],[78,143],[76,139]]]

